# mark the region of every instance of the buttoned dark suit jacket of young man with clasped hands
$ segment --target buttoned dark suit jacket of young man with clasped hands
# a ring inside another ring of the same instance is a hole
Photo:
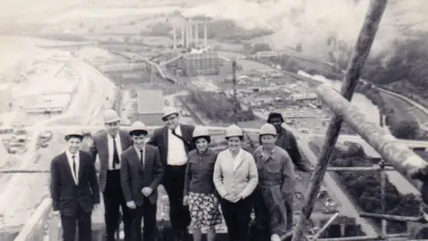
[[[164,168],[157,147],[145,145],[144,167],[138,158],[136,148],[130,146],[121,154],[120,181],[125,200],[134,201],[137,206],[144,203],[141,193],[144,187],[151,187],[153,192],[148,198],[152,204],[158,200],[158,186],[161,183]]]

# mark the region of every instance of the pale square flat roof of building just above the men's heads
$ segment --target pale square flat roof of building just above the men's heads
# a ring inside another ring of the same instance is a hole
[[[137,92],[138,113],[161,113],[165,107],[161,90],[144,89]]]

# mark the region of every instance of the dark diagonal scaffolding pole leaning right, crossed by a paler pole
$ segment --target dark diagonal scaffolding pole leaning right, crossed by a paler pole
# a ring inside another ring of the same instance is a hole
[[[367,55],[370,52],[374,36],[377,32],[379,22],[382,19],[387,2],[387,0],[372,0],[370,2],[370,6],[366,14],[366,20],[359,33],[357,44],[355,45],[354,51],[350,57],[350,62],[342,81],[341,95],[349,101],[351,100],[354,89],[357,86],[361,70],[366,62]],[[306,203],[303,204],[299,220],[292,235],[292,241],[304,240],[303,235],[306,223],[309,220],[314,204],[317,201],[317,194],[319,192],[321,182],[324,179],[325,171],[327,170],[328,162],[333,152],[333,147],[337,141],[337,137],[339,136],[342,121],[342,116],[338,115],[333,115],[333,118],[330,121],[330,125],[326,132],[327,136],[325,137],[325,143],[319,153],[317,160],[318,164],[316,170],[313,172],[311,178],[312,182],[309,184],[309,190],[305,198]]]

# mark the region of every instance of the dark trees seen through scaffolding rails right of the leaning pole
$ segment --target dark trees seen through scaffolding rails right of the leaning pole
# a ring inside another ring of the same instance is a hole
[[[318,154],[319,146],[309,143],[314,154]],[[350,145],[348,150],[334,148],[330,165],[333,167],[370,167],[372,162],[367,158],[361,146]],[[333,177],[340,182],[364,212],[381,213],[381,175],[379,171],[335,171]],[[419,215],[420,200],[416,195],[402,195],[397,187],[386,179],[385,186],[386,214],[414,216]],[[380,227],[381,221],[374,223]],[[407,224],[388,221],[389,233],[406,232]]]

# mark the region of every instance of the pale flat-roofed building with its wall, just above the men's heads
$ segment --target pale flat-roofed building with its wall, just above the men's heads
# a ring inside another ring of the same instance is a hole
[[[161,90],[143,89],[137,92],[137,120],[148,126],[164,125],[162,111],[165,107]],[[136,118],[135,118],[136,119]],[[134,122],[136,120],[132,120]]]

